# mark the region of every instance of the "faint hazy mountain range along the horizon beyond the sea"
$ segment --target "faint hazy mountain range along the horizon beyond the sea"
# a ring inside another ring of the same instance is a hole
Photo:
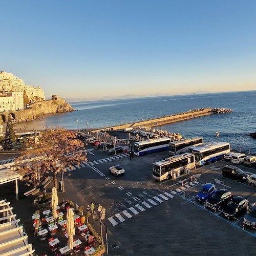
[[[195,91],[190,93],[179,93],[172,95],[188,95],[188,94],[203,94],[203,93],[216,93],[210,91]],[[147,97],[159,97],[159,96],[169,96],[169,94],[164,93],[152,93],[152,94],[123,94],[120,96],[104,96],[104,97],[93,97],[93,98],[65,98],[68,102],[77,101],[93,101],[93,100],[111,100],[111,99],[132,99],[132,98],[147,98]]]

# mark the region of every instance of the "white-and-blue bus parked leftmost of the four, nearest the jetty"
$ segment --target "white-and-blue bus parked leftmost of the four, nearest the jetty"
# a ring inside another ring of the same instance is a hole
[[[134,143],[134,154],[136,156],[143,156],[154,152],[168,150],[170,138],[162,137],[157,139],[149,139],[138,141]]]

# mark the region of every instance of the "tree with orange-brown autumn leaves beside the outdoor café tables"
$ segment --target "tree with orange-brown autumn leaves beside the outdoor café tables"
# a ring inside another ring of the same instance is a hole
[[[67,167],[86,161],[84,143],[77,140],[73,132],[59,129],[47,129],[35,140],[28,138],[32,150],[26,151],[15,161],[18,173],[38,179],[51,172],[53,184],[57,189],[57,174],[66,172]],[[29,159],[29,160],[28,160]]]

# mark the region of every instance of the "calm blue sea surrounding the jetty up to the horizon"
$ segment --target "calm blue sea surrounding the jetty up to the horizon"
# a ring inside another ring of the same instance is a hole
[[[205,142],[230,142],[233,150],[256,154],[256,91],[172,95],[132,99],[69,102],[74,112],[48,114],[35,121],[17,124],[20,130],[63,127],[87,130],[200,108],[226,108],[233,112],[202,116],[181,122],[155,126],[167,132],[179,132],[183,138],[202,136]],[[219,137],[216,137],[219,132]]]

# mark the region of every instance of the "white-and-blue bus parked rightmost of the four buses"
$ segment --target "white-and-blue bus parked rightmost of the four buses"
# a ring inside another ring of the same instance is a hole
[[[189,148],[189,152],[195,155],[196,165],[205,165],[223,159],[230,152],[228,142],[209,142]]]

